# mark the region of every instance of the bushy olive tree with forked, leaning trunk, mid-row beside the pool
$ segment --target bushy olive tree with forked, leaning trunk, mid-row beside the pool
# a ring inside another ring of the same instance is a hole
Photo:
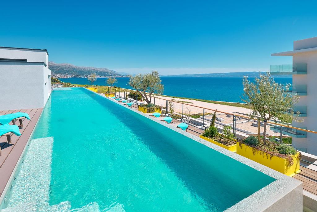
[[[162,80],[159,77],[159,72],[152,71],[147,74],[138,74],[135,76],[129,75],[129,85],[133,87],[147,104],[151,103],[153,94],[162,94],[164,85],[161,84]]]

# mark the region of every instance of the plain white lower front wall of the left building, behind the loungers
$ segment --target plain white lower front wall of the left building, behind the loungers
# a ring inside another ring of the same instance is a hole
[[[40,63],[0,62],[0,110],[44,107],[45,68]]]

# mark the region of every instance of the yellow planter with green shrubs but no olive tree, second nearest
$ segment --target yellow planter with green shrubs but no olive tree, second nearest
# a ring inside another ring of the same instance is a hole
[[[209,141],[210,143],[216,144],[219,147],[223,147],[231,152],[236,152],[237,140],[233,138],[233,133],[231,133],[230,126],[223,127],[222,133],[218,133],[217,127],[210,126],[199,137]]]

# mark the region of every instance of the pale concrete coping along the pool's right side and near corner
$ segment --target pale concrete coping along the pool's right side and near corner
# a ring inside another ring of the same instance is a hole
[[[87,89],[88,90],[88,89]],[[90,90],[89,90],[90,91]],[[90,91],[93,92],[93,91]],[[264,188],[258,190],[247,198],[237,202],[235,205],[228,208],[226,211],[302,211],[303,210],[303,197],[302,197],[302,182],[298,181],[294,178],[291,178],[287,175],[281,174],[271,168],[268,168],[262,164],[256,163],[248,158],[245,158],[241,155],[230,152],[222,147],[219,147],[213,143],[210,143],[204,139],[201,139],[191,133],[187,133],[175,126],[162,122],[161,120],[149,116],[146,113],[139,112],[134,110],[131,107],[125,106],[120,102],[107,98],[102,94],[98,94],[107,99],[108,101],[112,101],[116,104],[121,105],[129,110],[132,110],[135,113],[139,113],[140,115],[151,119],[165,127],[170,128],[178,133],[183,134],[184,136],[191,138],[211,149],[214,149],[230,158],[235,159],[247,166],[254,168],[270,177],[275,178],[276,180]]]

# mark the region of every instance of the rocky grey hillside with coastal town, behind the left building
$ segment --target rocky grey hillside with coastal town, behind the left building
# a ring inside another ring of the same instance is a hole
[[[55,78],[87,77],[91,73],[96,73],[98,77],[124,77],[124,75],[107,68],[84,67],[67,63],[49,62],[49,69],[52,71],[52,77]]]

